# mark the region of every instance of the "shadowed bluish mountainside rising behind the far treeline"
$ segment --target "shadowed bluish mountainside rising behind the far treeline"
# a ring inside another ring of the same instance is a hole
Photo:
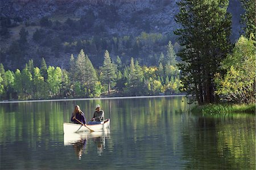
[[[105,50],[123,62],[131,57],[155,65],[168,41],[179,49],[177,0],[1,0],[1,58],[6,68],[24,66],[44,57],[48,65],[68,67],[71,54],[84,49],[93,65],[102,65]],[[236,40],[240,30],[240,1],[230,1]],[[22,29],[23,28],[23,29]]]

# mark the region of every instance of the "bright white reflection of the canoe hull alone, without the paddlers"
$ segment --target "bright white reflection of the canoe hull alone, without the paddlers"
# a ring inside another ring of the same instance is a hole
[[[80,133],[64,133],[64,145],[74,145],[77,142],[85,141],[90,138],[97,138],[97,137],[110,137],[110,130],[104,129],[104,131],[83,131]]]

